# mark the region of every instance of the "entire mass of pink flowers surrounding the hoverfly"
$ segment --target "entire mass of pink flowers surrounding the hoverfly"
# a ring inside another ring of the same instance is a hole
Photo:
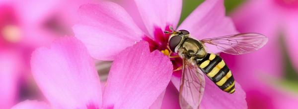
[[[247,0],[230,17],[224,0],[205,0],[179,23],[184,2],[1,0],[0,109],[180,109],[182,59],[168,55],[170,26],[198,40],[269,38],[237,56],[206,44],[228,64],[236,91],[205,76],[202,102],[190,109],[296,109],[297,92],[279,80],[284,54],[298,70],[298,0]],[[107,77],[99,75],[103,61],[112,61]]]

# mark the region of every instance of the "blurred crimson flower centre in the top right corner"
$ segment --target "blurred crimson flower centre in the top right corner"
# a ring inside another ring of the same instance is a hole
[[[290,8],[290,9],[297,9],[298,8],[298,0],[275,0],[277,4],[280,6]]]

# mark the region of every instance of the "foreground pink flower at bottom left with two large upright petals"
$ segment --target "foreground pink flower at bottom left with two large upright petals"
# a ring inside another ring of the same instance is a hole
[[[33,76],[50,102],[25,101],[12,109],[148,109],[170,81],[172,65],[141,41],[114,58],[104,91],[93,59],[74,37],[32,54]],[[160,107],[160,106],[159,106]]]

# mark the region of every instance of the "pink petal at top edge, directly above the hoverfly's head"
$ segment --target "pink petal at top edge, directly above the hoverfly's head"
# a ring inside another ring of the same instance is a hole
[[[182,9],[182,0],[135,0],[140,15],[151,36],[155,27],[165,29],[167,25],[176,27]]]

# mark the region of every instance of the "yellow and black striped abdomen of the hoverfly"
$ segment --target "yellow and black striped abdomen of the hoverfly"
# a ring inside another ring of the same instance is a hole
[[[223,91],[235,92],[234,77],[220,56],[208,53],[197,65]]]

